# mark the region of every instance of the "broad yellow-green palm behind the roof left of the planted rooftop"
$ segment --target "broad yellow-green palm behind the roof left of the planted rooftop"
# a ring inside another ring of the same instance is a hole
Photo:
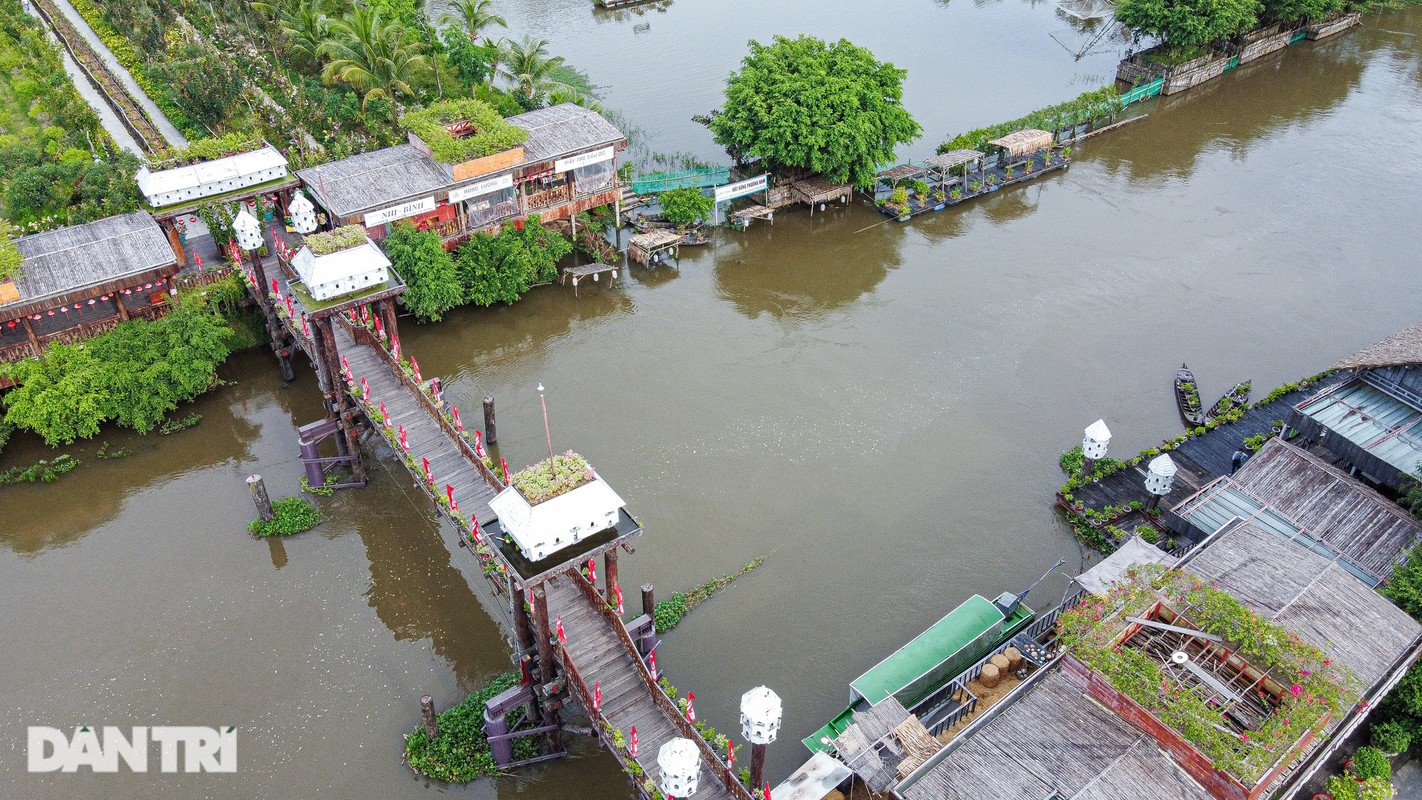
[[[404,26],[381,20],[378,9],[356,6],[331,23],[331,36],[321,44],[321,55],[330,60],[321,80],[363,92],[361,111],[374,98],[388,99],[394,118],[395,98],[412,97],[411,81],[429,71],[429,57],[421,50],[424,44]]]

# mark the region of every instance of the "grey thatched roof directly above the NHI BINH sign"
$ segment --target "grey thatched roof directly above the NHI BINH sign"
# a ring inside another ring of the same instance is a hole
[[[296,171],[326,210],[346,217],[434,195],[454,182],[435,161],[395,145]]]

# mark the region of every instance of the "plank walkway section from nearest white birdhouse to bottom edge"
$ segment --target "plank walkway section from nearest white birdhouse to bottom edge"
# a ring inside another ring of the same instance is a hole
[[[627,740],[631,729],[637,729],[636,760],[643,773],[653,777],[660,774],[656,764],[663,745],[678,736],[693,739],[702,745],[702,773],[691,800],[751,800],[751,794],[727,769],[722,760],[725,753],[715,753],[707,746],[667,695],[654,688],[627,629],[616,615],[607,612],[602,602],[593,605],[590,600],[596,594],[590,597],[589,593],[596,590],[576,574],[559,575],[545,585],[549,614],[562,615],[563,631],[567,634],[567,642],[562,647],[563,669],[570,682],[580,686],[580,693],[584,693],[583,708],[589,709],[599,736],[617,760],[626,766],[631,756],[609,742],[610,736],[600,725],[603,722],[621,730]],[[589,695],[593,686],[600,686],[603,693],[602,706],[596,712],[592,710]]]

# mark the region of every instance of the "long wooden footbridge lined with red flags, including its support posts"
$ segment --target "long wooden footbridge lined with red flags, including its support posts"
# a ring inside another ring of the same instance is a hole
[[[282,274],[267,277],[267,269]],[[573,699],[623,767],[630,774],[640,774],[634,780],[638,790],[643,780],[658,776],[653,764],[661,745],[680,736],[697,743],[702,767],[711,773],[710,779],[702,774],[694,799],[752,800],[727,767],[724,753],[712,750],[648,671],[646,658],[656,648],[651,587],[644,587],[640,617],[624,622],[616,611],[619,548],[626,550],[627,541],[641,533],[640,524],[621,510],[616,527],[543,561],[528,561],[506,541],[489,507],[489,500],[505,489],[492,469],[492,459],[476,452],[478,443],[462,431],[462,421],[454,406],[444,402],[438,384],[425,381],[412,368],[412,360],[407,362],[400,357],[392,306],[404,291],[398,277],[354,300],[319,304],[304,294],[284,260],[253,261],[243,270],[273,331],[273,348],[279,355],[293,348],[304,351],[326,395],[328,418],[301,429],[309,472],[320,476],[333,467],[348,466],[350,485],[364,483],[360,442],[378,433],[415,485],[461,530],[461,546],[479,561],[495,593],[509,601],[518,642],[513,655],[525,679],[522,686],[491,701],[489,708],[491,712],[503,708],[502,701],[508,710],[523,706],[526,712],[512,730],[503,728],[503,713],[492,713],[496,718],[492,720],[486,715],[499,766],[513,767],[563,755],[559,709]],[[317,455],[320,442],[311,439],[333,436],[337,455]],[[478,527],[471,519],[478,520]],[[597,556],[603,557],[606,595],[579,571],[584,563],[596,564]],[[636,755],[627,747],[633,728],[637,730]],[[543,739],[542,753],[513,760],[512,740],[535,736]]]

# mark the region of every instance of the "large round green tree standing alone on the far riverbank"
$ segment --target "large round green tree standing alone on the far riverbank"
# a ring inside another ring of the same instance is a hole
[[[902,105],[904,75],[846,40],[751,40],[727,81],[725,108],[708,125],[737,161],[761,158],[869,186],[894,146],[921,132]]]

